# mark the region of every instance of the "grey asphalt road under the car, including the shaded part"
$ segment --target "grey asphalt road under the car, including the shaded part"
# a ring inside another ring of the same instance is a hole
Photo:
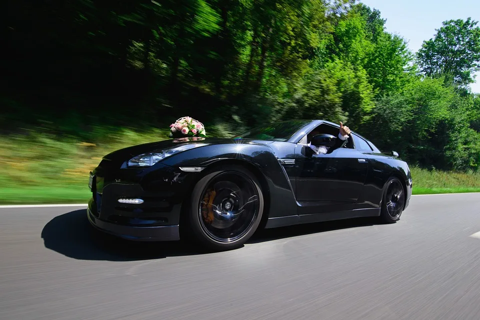
[[[215,254],[129,243],[74,207],[0,208],[0,319],[480,319],[480,194],[401,220],[262,232]]]

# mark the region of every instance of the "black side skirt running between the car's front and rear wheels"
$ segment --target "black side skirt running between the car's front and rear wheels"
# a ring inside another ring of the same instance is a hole
[[[324,222],[352,218],[378,217],[380,215],[380,211],[380,208],[365,208],[321,214],[268,218],[265,229],[285,227],[304,223]]]

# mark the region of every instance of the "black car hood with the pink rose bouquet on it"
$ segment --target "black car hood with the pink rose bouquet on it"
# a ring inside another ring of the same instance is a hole
[[[139,144],[123,149],[113,151],[103,157],[107,160],[125,161],[140,154],[161,151],[168,148],[173,148],[178,145],[204,143],[204,144],[234,144],[234,143],[254,143],[254,144],[270,144],[273,141],[268,140],[250,140],[250,139],[229,139],[229,138],[179,138],[168,139],[158,142],[150,142]]]

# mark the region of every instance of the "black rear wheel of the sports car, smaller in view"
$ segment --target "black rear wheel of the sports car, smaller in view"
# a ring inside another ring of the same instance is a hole
[[[380,219],[384,223],[400,220],[405,205],[405,190],[398,178],[390,177],[385,184],[381,200]]]

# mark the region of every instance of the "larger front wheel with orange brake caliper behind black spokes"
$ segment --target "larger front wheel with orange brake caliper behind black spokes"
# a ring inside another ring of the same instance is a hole
[[[193,240],[213,251],[241,247],[258,228],[263,195],[256,177],[239,165],[211,169],[195,184],[187,220]]]

